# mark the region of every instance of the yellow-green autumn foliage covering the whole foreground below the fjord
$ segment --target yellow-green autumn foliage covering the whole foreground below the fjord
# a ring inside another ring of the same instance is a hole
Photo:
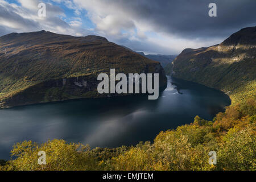
[[[2,170],[255,170],[256,102],[229,106],[213,121],[199,116],[190,125],[161,132],[154,143],[95,148],[52,140],[43,144],[24,141],[11,151],[13,159]],[[46,151],[47,164],[38,164]],[[217,165],[208,163],[217,152]]]

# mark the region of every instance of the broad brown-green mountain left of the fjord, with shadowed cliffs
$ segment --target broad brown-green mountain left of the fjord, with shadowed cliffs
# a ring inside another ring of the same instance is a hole
[[[159,73],[152,61],[100,36],[75,37],[40,31],[0,37],[0,107],[74,98],[109,97],[97,93],[97,76]]]

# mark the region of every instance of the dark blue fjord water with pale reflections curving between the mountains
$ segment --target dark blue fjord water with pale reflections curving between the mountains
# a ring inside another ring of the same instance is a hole
[[[175,84],[171,84],[174,82]],[[212,119],[230,105],[224,93],[192,82],[168,79],[156,101],[147,96],[86,99],[0,110],[0,159],[10,159],[14,143],[64,139],[91,147],[135,145],[160,131]]]

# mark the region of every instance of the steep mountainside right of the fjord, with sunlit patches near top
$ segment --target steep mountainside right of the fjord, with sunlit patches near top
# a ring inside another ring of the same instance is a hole
[[[256,27],[243,28],[216,46],[185,49],[166,72],[222,90],[232,103],[255,99]]]

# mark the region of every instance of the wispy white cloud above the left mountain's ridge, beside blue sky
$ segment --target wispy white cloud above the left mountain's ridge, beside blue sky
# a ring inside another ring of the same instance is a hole
[[[90,31],[80,28],[81,20],[65,22],[63,10],[51,3],[46,4],[46,17],[38,16],[38,0],[18,0],[20,6],[0,0],[0,35],[10,32],[52,31],[60,34],[86,35]],[[56,0],[55,0],[56,1]],[[2,27],[2,28],[1,28]]]

